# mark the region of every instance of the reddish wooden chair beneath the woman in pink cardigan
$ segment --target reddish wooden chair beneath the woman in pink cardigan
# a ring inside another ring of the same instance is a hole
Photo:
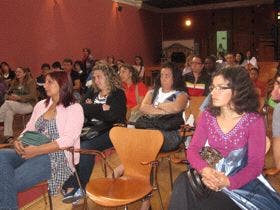
[[[0,149],[3,148],[11,148],[13,144],[0,144]],[[52,198],[48,189],[48,182],[43,181],[39,184],[36,184],[35,186],[18,193],[18,206],[19,208],[24,207],[28,203],[38,199],[39,197],[43,196],[45,204],[47,205],[47,198],[46,194],[48,194],[48,200],[50,204],[50,209],[53,210],[53,204],[52,204]]]

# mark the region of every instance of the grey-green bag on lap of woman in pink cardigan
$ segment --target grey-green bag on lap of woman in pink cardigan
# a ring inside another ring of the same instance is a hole
[[[39,146],[51,142],[51,140],[47,136],[37,131],[24,132],[20,137],[20,140],[24,146],[28,146],[28,145]]]

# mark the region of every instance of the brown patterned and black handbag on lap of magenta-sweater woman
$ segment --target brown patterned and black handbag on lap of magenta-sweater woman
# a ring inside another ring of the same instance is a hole
[[[223,158],[221,153],[217,151],[214,148],[211,148],[209,146],[203,147],[200,151],[200,156],[203,160],[207,161],[209,166],[215,167],[216,163],[219,162],[220,159]],[[192,192],[197,198],[201,197],[208,197],[211,193],[211,189],[209,189],[201,180],[201,175],[198,173],[198,171],[190,166],[190,164],[187,162],[188,170],[187,173],[187,179],[190,183]]]

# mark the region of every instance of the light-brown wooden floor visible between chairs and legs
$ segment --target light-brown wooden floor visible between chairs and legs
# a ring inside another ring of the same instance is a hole
[[[14,128],[16,130],[16,134],[19,134],[20,131],[22,130],[21,123],[17,124],[17,125],[14,125]],[[3,131],[0,131],[0,134],[3,135]],[[179,156],[183,157],[184,153],[181,152],[179,154]],[[116,153],[111,154],[109,156],[108,160],[109,160],[109,162],[112,166],[118,166],[119,163],[120,163]],[[269,167],[272,167],[272,166],[273,166],[273,160],[272,160],[272,152],[270,150],[267,154],[267,157],[266,157],[265,167],[269,168]],[[173,169],[173,177],[174,177],[174,180],[175,180],[175,178],[181,172],[183,172],[185,170],[185,166],[184,165],[173,164],[172,169]],[[94,177],[104,177],[100,161],[96,162],[96,164],[95,164],[95,167],[94,167],[91,178],[94,178]],[[159,180],[160,190],[161,190],[161,194],[162,194],[164,209],[167,209],[170,194],[171,194],[167,160],[162,160],[160,162],[159,171],[158,171],[158,180]],[[280,174],[278,174],[277,176],[274,176],[274,177],[268,177],[268,180],[273,185],[273,187],[278,192],[280,192]],[[61,201],[62,196],[61,195],[54,196],[52,198],[52,200],[53,200],[55,210],[70,210],[70,209],[74,209],[74,210],[80,210],[81,209],[82,210],[82,205],[72,207],[72,205],[70,205],[70,204],[62,203],[62,201]],[[153,210],[159,210],[160,209],[159,197],[158,197],[158,194],[157,194],[156,191],[153,193],[151,202],[152,202]],[[95,209],[95,210],[116,209],[116,208],[104,208],[104,207],[101,207],[101,206],[97,206],[96,204],[94,204],[91,201],[88,201],[88,203],[89,203],[89,209]],[[140,208],[140,206],[141,206],[141,202],[139,201],[139,202],[136,202],[134,204],[131,204],[129,206],[129,209],[137,210],[137,209]],[[33,202],[33,203],[25,206],[25,208],[22,208],[22,209],[26,209],[26,210],[41,210],[42,209],[42,210],[45,210],[45,209],[49,209],[49,206],[46,206],[46,204],[44,202],[44,199],[42,197],[41,199],[38,199],[36,202]],[[124,209],[124,208],[119,207],[117,209]]]

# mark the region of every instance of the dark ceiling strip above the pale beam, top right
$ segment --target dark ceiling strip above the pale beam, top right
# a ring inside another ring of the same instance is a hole
[[[203,4],[224,3],[235,0],[142,0],[143,4],[159,9],[198,6]]]

